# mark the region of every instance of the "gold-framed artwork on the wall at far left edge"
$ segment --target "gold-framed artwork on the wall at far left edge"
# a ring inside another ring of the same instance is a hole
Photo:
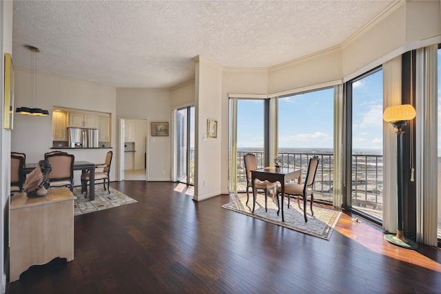
[[[14,122],[14,67],[9,53],[5,53],[5,87],[3,94],[3,127],[12,129]]]

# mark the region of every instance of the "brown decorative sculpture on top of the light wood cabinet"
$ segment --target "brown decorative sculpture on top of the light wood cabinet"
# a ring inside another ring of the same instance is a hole
[[[52,167],[48,160],[40,160],[39,165],[28,174],[25,180],[24,191],[30,198],[44,197],[48,195],[49,178],[48,174]]]

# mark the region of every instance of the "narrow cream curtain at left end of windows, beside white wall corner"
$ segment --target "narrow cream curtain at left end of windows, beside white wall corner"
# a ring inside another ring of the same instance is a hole
[[[229,193],[237,193],[237,98],[229,98]]]

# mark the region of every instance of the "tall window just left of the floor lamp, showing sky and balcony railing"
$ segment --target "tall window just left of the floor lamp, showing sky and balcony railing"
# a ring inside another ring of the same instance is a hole
[[[383,77],[378,68],[351,81],[351,207],[382,220]]]

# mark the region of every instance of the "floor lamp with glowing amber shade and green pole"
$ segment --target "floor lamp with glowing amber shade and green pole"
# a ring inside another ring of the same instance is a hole
[[[417,249],[418,244],[412,240],[404,238],[404,221],[402,214],[404,211],[403,195],[404,178],[402,174],[402,128],[407,125],[407,121],[416,116],[416,111],[412,105],[398,105],[387,107],[383,113],[384,121],[391,123],[397,129],[397,185],[398,185],[398,228],[396,235],[384,235],[384,240],[407,249]]]

